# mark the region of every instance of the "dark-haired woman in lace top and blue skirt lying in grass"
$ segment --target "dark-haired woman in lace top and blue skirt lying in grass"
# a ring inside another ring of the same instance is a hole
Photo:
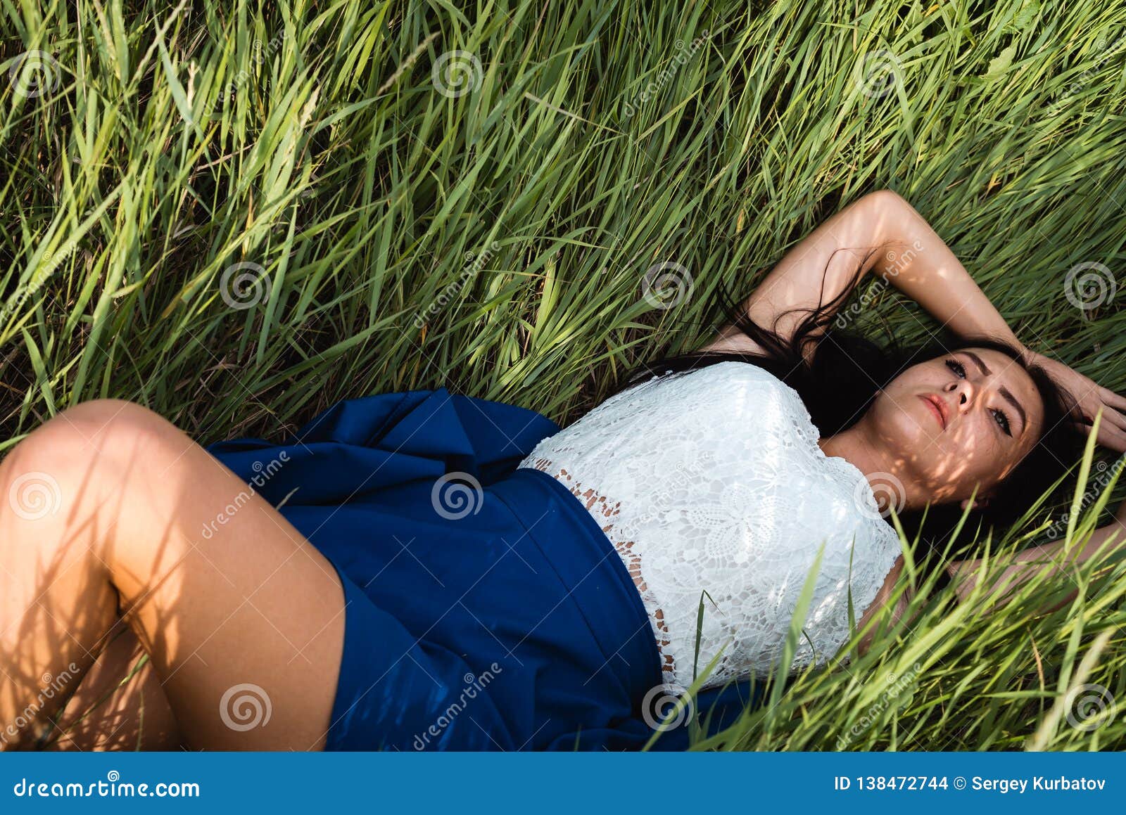
[[[868,272],[953,341],[843,331]],[[790,666],[901,615],[893,509],[918,526],[929,504],[924,540],[965,511],[1001,529],[1100,410],[1126,450],[1126,398],[1025,349],[893,192],[732,316],[563,430],[444,388],[209,450],[128,402],[62,412],[0,465],[0,746],[641,746],[655,695],[771,672],[795,614]],[[1026,549],[998,588],[1061,553]],[[940,565],[963,598],[982,573]]]

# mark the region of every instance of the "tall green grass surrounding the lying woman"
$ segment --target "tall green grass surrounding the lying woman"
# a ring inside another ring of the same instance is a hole
[[[1126,391],[1120,296],[1064,289],[1124,257],[1126,5],[752,6],[0,3],[0,455],[99,396],[203,442],[439,385],[568,422],[881,187],[1027,344]],[[455,51],[480,62],[459,96],[432,73]],[[224,301],[235,263],[252,307]],[[691,278],[674,307],[643,296],[658,263]],[[860,328],[933,323],[885,289]],[[932,607],[715,746],[1126,749],[1124,711],[1058,707],[1126,705],[1121,567],[1075,577],[1048,615]]]

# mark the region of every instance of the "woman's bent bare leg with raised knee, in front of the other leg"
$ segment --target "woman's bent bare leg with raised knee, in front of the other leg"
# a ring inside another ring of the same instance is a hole
[[[0,747],[50,735],[119,616],[190,746],[324,745],[343,643],[331,564],[172,424],[102,400],[0,464]]]

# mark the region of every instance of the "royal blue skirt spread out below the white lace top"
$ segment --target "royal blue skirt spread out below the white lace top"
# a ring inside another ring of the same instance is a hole
[[[560,482],[516,468],[557,431],[438,388],[339,402],[282,445],[208,448],[343,584],[328,750],[683,750],[761,701],[742,682],[679,711],[663,697],[613,544]]]

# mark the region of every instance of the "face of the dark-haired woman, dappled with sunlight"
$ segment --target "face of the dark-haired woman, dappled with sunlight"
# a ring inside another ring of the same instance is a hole
[[[959,501],[977,484],[982,500],[1039,439],[1044,405],[1018,361],[967,348],[904,370],[866,419],[921,492]]]

